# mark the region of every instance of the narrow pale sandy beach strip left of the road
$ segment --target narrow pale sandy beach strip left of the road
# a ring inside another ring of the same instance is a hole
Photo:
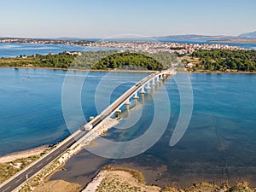
[[[16,153],[13,153],[13,154],[7,154],[7,155],[4,155],[4,156],[0,157],[0,163],[6,163],[6,162],[13,161],[13,160],[18,160],[18,159],[38,155],[38,154],[43,153],[48,148],[49,147],[47,147],[47,146],[42,146],[42,147],[39,147],[39,148],[32,148],[32,149],[29,149],[29,150],[26,150],[26,151],[20,151],[20,152],[16,152]]]

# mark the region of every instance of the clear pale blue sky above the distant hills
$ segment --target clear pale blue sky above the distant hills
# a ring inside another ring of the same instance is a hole
[[[1,0],[0,37],[239,35],[256,31],[255,0]]]

